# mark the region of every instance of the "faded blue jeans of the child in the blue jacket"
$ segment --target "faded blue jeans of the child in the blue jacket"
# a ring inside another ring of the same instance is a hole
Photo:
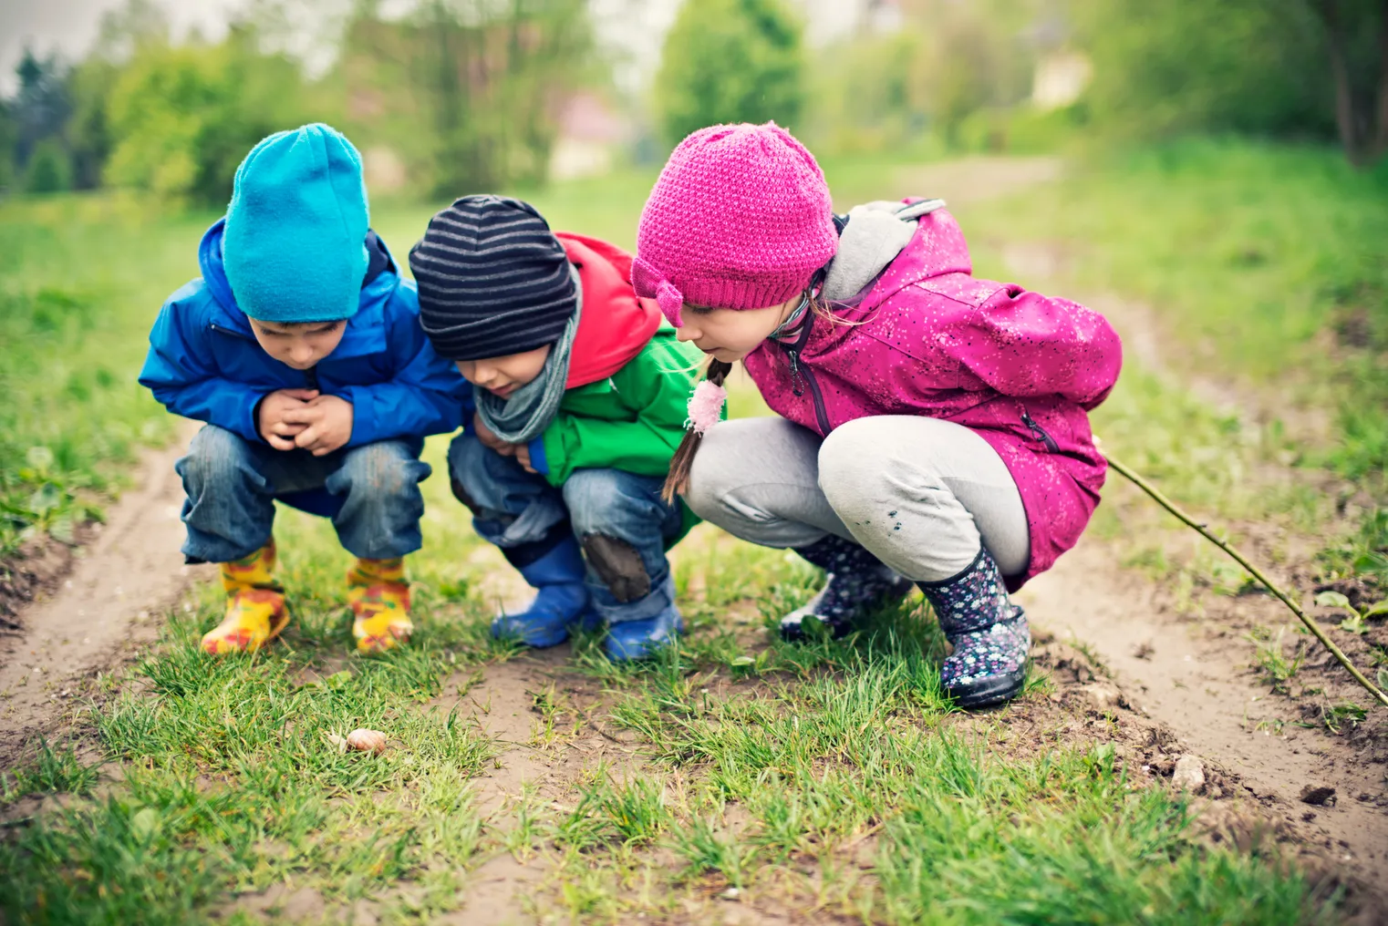
[[[226,563],[264,546],[275,525],[275,499],[332,517],[354,556],[386,560],[419,549],[425,499],[419,482],[433,471],[419,460],[422,441],[379,441],[314,456],[205,426],[174,464],[183,478],[183,556]]]

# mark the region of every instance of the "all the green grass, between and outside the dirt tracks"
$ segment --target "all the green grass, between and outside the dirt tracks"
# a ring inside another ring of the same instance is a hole
[[[1367,299],[1378,311],[1380,218],[1374,201],[1349,202],[1377,187],[1356,186],[1370,180],[1341,176],[1316,152],[1230,151],[1227,168],[1199,148],[1137,157],[1020,205],[967,207],[960,219],[981,245],[981,272],[1006,276],[988,247],[1004,232],[1059,234],[1083,248],[1077,277],[1170,306],[1210,363],[1267,380],[1296,367],[1306,401],[1377,388],[1306,359],[1317,331],[1357,317],[1342,306]],[[881,189],[899,183],[895,165],[826,169],[840,205],[922,193]],[[1301,175],[1302,186],[1269,183]],[[651,179],[529,195],[555,227],[630,245]],[[1209,198],[1206,183],[1224,193]],[[1267,195],[1285,186],[1295,189]],[[382,202],[373,225],[403,258],[429,212]],[[137,446],[169,435],[172,423],[133,380],[153,315],[196,273],[196,241],[212,218],[161,216],[119,197],[0,205],[0,385],[14,396],[0,409],[0,556],[25,536],[67,536],[119,487]],[[1205,247],[1212,234],[1217,247]],[[1264,258],[1239,250],[1255,238]],[[1337,262],[1337,252],[1353,256]],[[1274,311],[1276,292],[1292,295]],[[738,413],[759,409],[750,392],[736,401]],[[1376,419],[1363,420],[1352,433],[1363,439],[1316,456],[1131,365],[1097,430],[1192,506],[1314,525],[1334,500],[1249,474],[1298,453],[1353,474],[1376,459]],[[347,556],[326,524],[283,513],[282,577],[296,610],[282,645],[203,658],[197,636],[221,609],[204,589],[168,615],[160,645],[118,692],[94,703],[89,739],[44,744],[4,776],[0,804],[60,797],[0,835],[7,922],[261,922],[242,901],[276,886],[316,894],[328,920],[366,904],[383,922],[428,922],[468,897],[471,871],[507,853],[543,864],[530,902],[572,922],[713,915],[709,904],[730,889],[799,914],[886,923],[1334,922],[1334,898],[1274,848],[1241,854],[1201,840],[1185,798],[1134,778],[1106,735],[1027,746],[1010,710],[962,721],[938,689],[944,643],[917,607],[884,613],[848,640],[780,643],[770,627],[818,574],[708,532],[686,542],[676,570],[691,629],[680,649],[613,665],[597,639],[582,639],[573,671],[604,692],[601,703],[580,706],[558,686],[533,693],[525,749],[536,755],[561,754],[584,713],[600,710],[591,719],[644,758],[593,760],[558,804],[525,789],[484,808],[480,772],[516,747],[455,707],[514,650],[487,636],[491,606],[469,559],[479,542],[437,474],[443,442],[428,455],[436,475],[425,484],[426,546],[411,561],[412,646],[351,654]],[[1095,530],[1133,532],[1112,507]],[[1384,552],[1370,518],[1326,564],[1363,570]],[[1135,556],[1192,596],[1244,586],[1209,560],[1174,561],[1156,548]],[[1276,658],[1269,647],[1269,663],[1295,672],[1280,647]],[[1017,710],[1055,690],[1034,674]],[[1330,708],[1324,722],[1356,722],[1351,707]],[[379,758],[337,751],[328,735],[355,726],[386,731],[391,749]],[[93,760],[117,771],[99,783]]]

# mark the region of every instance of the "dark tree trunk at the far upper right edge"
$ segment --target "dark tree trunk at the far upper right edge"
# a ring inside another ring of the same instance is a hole
[[[1388,0],[1307,0],[1326,33],[1335,126],[1345,157],[1388,154]]]

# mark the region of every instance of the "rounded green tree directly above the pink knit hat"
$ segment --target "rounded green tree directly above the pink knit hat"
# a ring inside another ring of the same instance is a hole
[[[801,32],[781,0],[687,0],[655,78],[666,139],[719,122],[794,128],[805,103]]]

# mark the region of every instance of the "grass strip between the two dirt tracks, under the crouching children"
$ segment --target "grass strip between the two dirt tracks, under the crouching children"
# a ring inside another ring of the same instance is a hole
[[[433,441],[428,459],[441,452]],[[282,512],[282,643],[208,660],[197,638],[219,595],[175,609],[96,704],[85,749],[118,778],[93,789],[94,771],[46,749],[8,786],[64,800],[0,837],[0,915],[253,923],[253,901],[286,886],[321,898],[325,922],[429,922],[468,898],[471,871],[511,854],[548,872],[530,897],[547,922],[679,916],[727,889],[884,923],[1335,920],[1334,898],[1274,850],[1206,844],[1185,798],[1133,780],[1102,736],[1034,751],[1006,744],[1008,711],[959,725],[920,606],[847,640],[776,640],[772,620],[815,573],[708,531],[677,567],[680,649],[616,665],[597,638],[576,647],[573,671],[607,692],[600,722],[648,758],[587,762],[564,805],[523,790],[484,810],[480,772],[508,749],[557,755],[579,708],[557,686],[533,692],[525,747],[466,719],[468,689],[514,650],[459,581],[479,548],[464,510],[443,480],[425,489],[412,645],[353,654],[347,556],[330,525]],[[1034,678],[1023,700],[1048,690]],[[357,726],[391,747],[340,753],[329,735]]]

